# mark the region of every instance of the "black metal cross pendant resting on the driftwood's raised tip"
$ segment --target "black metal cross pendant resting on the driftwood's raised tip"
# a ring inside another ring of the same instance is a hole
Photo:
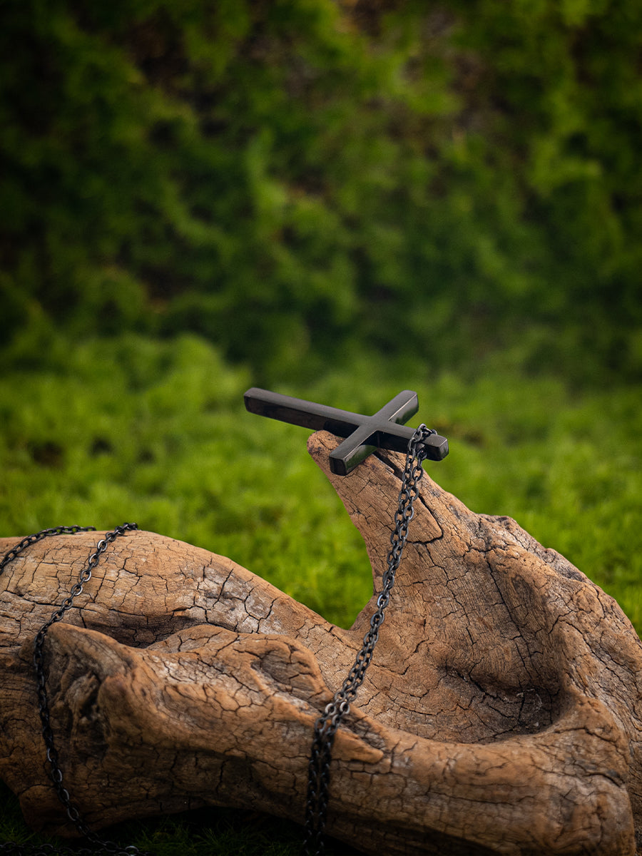
[[[343,443],[330,452],[330,469],[340,476],[348,475],[376,449],[407,451],[414,428],[408,428],[403,423],[419,410],[417,393],[410,389],[395,395],[373,416],[349,413],[348,410],[337,410],[336,407],[313,404],[312,401],[255,387],[248,389],[243,398],[250,413],[280,419],[312,431],[330,431],[336,437],[346,437]],[[438,434],[431,434],[425,440],[425,450],[428,453],[426,457],[431,461],[443,461],[448,455],[448,440]]]

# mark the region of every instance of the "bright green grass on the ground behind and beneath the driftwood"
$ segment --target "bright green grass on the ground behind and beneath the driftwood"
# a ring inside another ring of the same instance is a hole
[[[374,412],[417,389],[450,455],[426,465],[475,511],[508,514],[613,595],[642,629],[639,389],[580,393],[506,362],[463,380],[366,362],[278,391]],[[146,529],[230,556],[330,621],[371,593],[366,550],[306,455],[306,431],[245,412],[253,377],[183,336],[84,342],[51,369],[0,379],[0,534],[80,523]],[[0,840],[28,835],[2,794]],[[119,828],[163,853],[298,853],[300,830],[211,809]],[[124,836],[124,837],[122,837]],[[345,847],[329,853],[347,853]]]

